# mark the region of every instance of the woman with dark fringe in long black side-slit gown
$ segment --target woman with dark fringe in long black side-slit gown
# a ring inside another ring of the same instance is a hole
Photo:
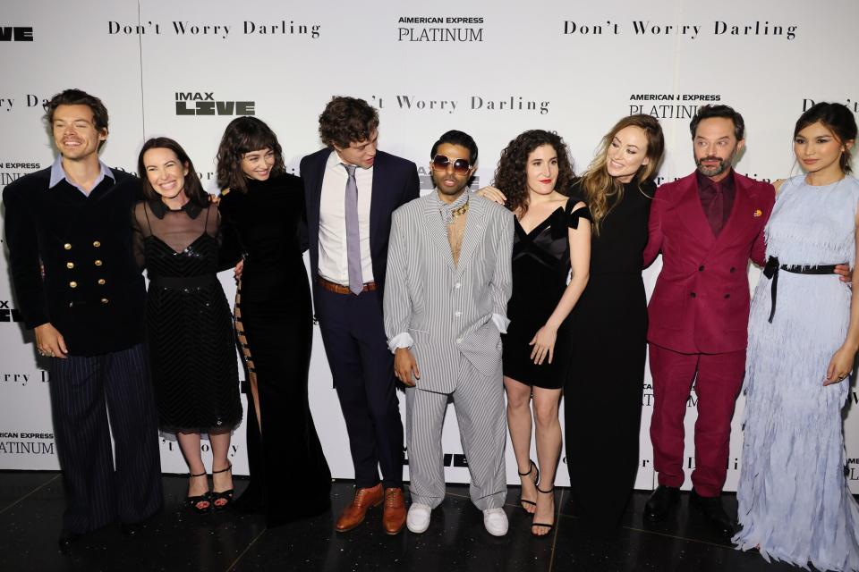
[[[285,172],[276,136],[256,117],[227,126],[217,153],[219,209],[243,252],[235,325],[251,386],[251,484],[235,502],[268,525],[330,506],[331,474],[308,404],[313,317],[302,240],[302,180]]]

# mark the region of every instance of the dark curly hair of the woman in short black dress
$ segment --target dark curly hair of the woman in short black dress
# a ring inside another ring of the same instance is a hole
[[[543,145],[551,145],[557,153],[555,189],[566,195],[575,177],[570,151],[564,139],[557,133],[540,129],[528,130],[510,141],[501,151],[501,158],[498,159],[494,184],[506,195],[506,207],[513,212],[518,210],[520,218],[528,211],[528,156],[534,149]]]

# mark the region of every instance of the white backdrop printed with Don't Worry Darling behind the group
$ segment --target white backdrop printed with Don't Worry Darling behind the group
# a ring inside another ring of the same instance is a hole
[[[671,181],[693,171],[688,123],[704,103],[744,114],[747,147],[737,170],[773,180],[798,172],[792,128],[812,102],[859,110],[856,21],[855,0],[723,0],[718,10],[693,0],[475,0],[455,7],[395,0],[8,2],[0,14],[0,188],[51,164],[55,151],[41,104],[71,87],[107,105],[107,164],[133,172],[145,139],[170,136],[189,151],[210,192],[217,192],[217,143],[235,115],[268,122],[294,172],[302,156],[320,147],[317,121],[332,95],[363,97],[378,107],[380,147],[419,165],[424,193],[432,188],[429,147],[445,130],[477,140],[483,185],[501,149],[523,130],[557,130],[581,172],[604,132],[634,113],[662,122],[668,151],[659,178]],[[7,254],[0,257],[0,469],[55,469],[46,363],[21,326],[7,263]],[[759,271],[749,272],[756,282]],[[644,273],[649,291],[658,273],[659,262]],[[231,274],[221,279],[232,296]],[[310,406],[333,474],[352,477],[318,334]],[[642,406],[637,486],[650,489],[649,374]],[[743,409],[740,398],[727,490],[739,474]],[[694,421],[692,394],[687,470]],[[845,424],[854,492],[857,430],[854,411]],[[164,471],[185,472],[173,436],[159,439]],[[447,479],[467,481],[453,415],[444,442]],[[233,456],[235,473],[246,473],[244,425],[234,434]],[[509,447],[507,475],[515,482]],[[567,484],[563,466],[557,484]]]

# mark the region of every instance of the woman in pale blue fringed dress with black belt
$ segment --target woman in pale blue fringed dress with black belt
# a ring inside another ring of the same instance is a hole
[[[855,119],[844,105],[814,105],[794,137],[806,174],[779,189],[766,227],[770,263],[749,321],[736,493],[743,530],[734,543],[768,561],[859,570],[859,507],[844,474],[841,416],[859,347],[859,300],[831,269],[856,258],[859,181],[846,176]]]

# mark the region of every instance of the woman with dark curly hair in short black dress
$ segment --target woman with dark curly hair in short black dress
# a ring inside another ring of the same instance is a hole
[[[481,190],[488,198],[503,197],[515,214],[510,324],[502,335],[504,386],[510,441],[522,478],[520,502],[534,515],[536,536],[549,534],[555,523],[552,492],[561,451],[557,408],[570,360],[568,315],[588,282],[590,215],[582,198],[557,191],[573,179],[568,156],[556,134],[525,131],[501,152],[495,188]],[[531,460],[532,425],[540,472]]]

